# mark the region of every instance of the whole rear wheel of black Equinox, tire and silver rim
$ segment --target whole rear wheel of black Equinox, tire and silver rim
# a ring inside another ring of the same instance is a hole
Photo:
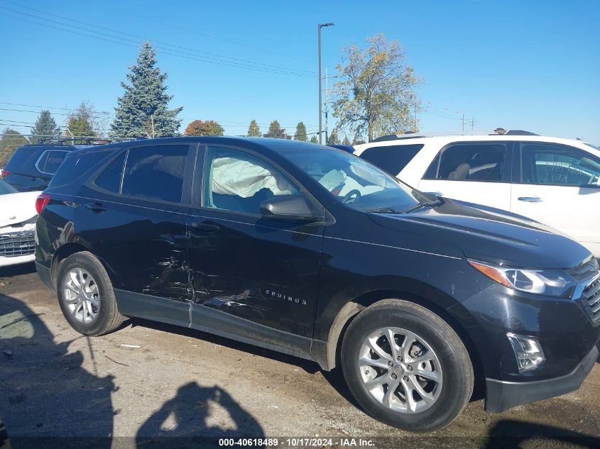
[[[75,331],[100,336],[123,322],[116,306],[111,281],[102,263],[84,251],[63,260],[58,267],[58,301],[65,319]]]

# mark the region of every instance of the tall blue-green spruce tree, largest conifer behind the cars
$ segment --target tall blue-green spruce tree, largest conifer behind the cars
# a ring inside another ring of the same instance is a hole
[[[172,95],[166,94],[168,74],[156,67],[156,50],[151,43],[141,46],[136,64],[126,75],[131,84],[121,82],[125,89],[117,99],[112,135],[119,137],[163,137],[175,135],[181,126],[177,118],[183,108],[168,109]]]

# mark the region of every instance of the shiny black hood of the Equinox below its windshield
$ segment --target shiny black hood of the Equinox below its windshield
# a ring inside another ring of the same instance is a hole
[[[591,256],[567,235],[524,216],[444,199],[410,214],[370,214],[386,228],[418,235],[440,248],[454,245],[470,259],[523,268],[572,268]]]

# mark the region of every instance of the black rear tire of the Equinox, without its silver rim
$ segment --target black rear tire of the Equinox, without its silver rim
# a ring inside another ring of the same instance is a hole
[[[96,318],[92,322],[83,323],[82,321],[77,320],[77,318],[72,316],[69,307],[67,306],[65,292],[62,286],[65,284],[65,279],[67,279],[69,272],[74,268],[82,268],[87,271],[94,279],[95,284],[97,284],[99,305]],[[81,253],[72,254],[65,260],[62,260],[58,266],[58,276],[56,279],[60,309],[67,322],[75,329],[75,331],[84,336],[102,336],[121,326],[124,318],[119,314],[119,309],[116,306],[114,290],[109,275],[107,274],[107,270],[104,270],[102,263],[100,263],[92,253],[82,251]]]

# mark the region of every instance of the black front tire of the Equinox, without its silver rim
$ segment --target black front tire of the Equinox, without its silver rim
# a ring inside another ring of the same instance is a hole
[[[439,397],[429,409],[412,414],[394,411],[364,386],[358,362],[361,345],[372,332],[386,327],[414,332],[437,355],[443,382]],[[361,311],[344,334],[341,357],[348,387],[366,413],[404,431],[430,432],[447,426],[467,406],[473,392],[473,367],[462,340],[440,316],[409,301],[384,299]]]

